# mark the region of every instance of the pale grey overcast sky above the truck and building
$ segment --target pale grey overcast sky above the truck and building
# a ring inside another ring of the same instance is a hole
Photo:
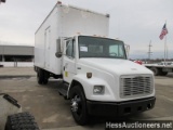
[[[0,4],[0,43],[35,44],[35,31],[56,0],[6,0]],[[63,3],[110,14],[109,37],[131,47],[131,54],[147,56],[163,51],[159,35],[167,21],[167,43],[173,57],[173,0],[62,0]],[[3,42],[2,42],[3,41]],[[156,52],[156,53],[155,53]],[[159,55],[160,56],[160,55]]]

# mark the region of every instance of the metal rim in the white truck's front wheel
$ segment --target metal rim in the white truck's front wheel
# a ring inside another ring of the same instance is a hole
[[[71,112],[80,116],[82,114],[82,102],[78,94],[75,94],[71,99]]]

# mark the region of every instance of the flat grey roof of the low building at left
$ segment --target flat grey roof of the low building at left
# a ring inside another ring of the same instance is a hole
[[[0,55],[34,55],[34,47],[0,44]]]

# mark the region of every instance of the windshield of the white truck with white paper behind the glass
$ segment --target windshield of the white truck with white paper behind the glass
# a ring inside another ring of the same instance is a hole
[[[79,36],[79,57],[127,58],[122,41]]]

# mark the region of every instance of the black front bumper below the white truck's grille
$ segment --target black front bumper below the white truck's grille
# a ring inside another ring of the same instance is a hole
[[[139,99],[127,102],[86,101],[88,113],[95,116],[128,116],[154,108],[156,98]]]

